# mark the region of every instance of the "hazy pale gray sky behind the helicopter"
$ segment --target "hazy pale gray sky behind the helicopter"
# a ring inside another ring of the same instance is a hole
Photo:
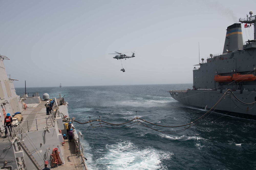
[[[19,80],[15,87],[193,83],[193,65],[222,53],[227,27],[251,10],[256,15],[256,1],[237,0],[0,0],[0,6],[0,54],[10,59],[4,64]],[[253,39],[252,29],[242,24],[244,41]],[[114,51],[135,57],[121,63]]]

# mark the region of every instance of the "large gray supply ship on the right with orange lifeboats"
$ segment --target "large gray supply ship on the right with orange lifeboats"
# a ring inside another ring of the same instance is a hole
[[[171,90],[170,95],[181,103],[237,117],[256,120],[256,15],[249,12],[239,19],[244,27],[254,27],[254,40],[243,42],[241,23],[227,28],[223,53],[210,54],[194,65],[193,87]]]

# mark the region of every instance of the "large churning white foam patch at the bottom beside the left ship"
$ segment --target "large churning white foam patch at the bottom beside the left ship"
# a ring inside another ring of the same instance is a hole
[[[106,149],[108,153],[97,160],[106,169],[161,169],[162,160],[168,160],[173,155],[152,147],[138,148],[129,141],[106,145]]]

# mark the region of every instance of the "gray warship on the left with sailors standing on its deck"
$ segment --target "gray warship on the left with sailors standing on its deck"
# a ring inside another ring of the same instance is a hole
[[[6,56],[0,56],[0,169],[31,170],[49,168],[87,170],[83,153],[83,135],[73,127],[72,140],[64,139],[66,123],[74,121],[68,114],[68,105],[63,97],[53,98],[54,109],[46,115],[45,104],[49,95],[41,100],[38,93],[29,97],[18,96],[15,79],[8,78],[4,66]],[[12,133],[7,130],[6,115],[14,115]],[[80,141],[81,140],[81,141]]]

